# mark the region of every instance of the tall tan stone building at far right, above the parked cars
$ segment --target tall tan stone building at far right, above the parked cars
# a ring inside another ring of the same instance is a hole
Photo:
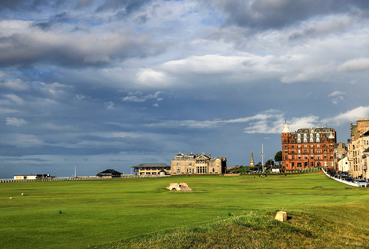
[[[357,124],[351,123],[351,139],[347,142],[349,174],[355,178],[367,178],[364,167],[364,151],[369,148],[369,119],[358,119]]]

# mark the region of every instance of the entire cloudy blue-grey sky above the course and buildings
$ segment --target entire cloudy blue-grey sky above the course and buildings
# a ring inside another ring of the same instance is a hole
[[[369,118],[367,0],[1,0],[0,178],[274,158]]]

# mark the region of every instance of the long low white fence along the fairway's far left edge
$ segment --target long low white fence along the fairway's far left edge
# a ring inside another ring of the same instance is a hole
[[[53,181],[81,181],[81,180],[107,180],[107,179],[119,179],[119,178],[157,178],[167,177],[170,175],[125,175],[120,177],[55,177],[55,178],[40,178],[40,179],[0,179],[1,182],[53,182]]]

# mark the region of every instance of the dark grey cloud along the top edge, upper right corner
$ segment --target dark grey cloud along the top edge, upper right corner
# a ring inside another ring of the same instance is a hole
[[[367,0],[244,0],[219,1],[226,23],[250,29],[282,28],[316,16],[368,9]]]

